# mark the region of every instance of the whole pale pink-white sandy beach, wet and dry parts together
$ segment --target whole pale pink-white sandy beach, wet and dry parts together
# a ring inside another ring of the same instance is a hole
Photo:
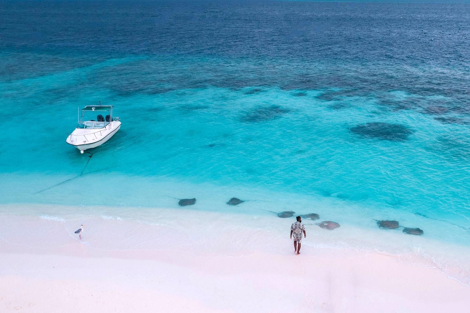
[[[314,243],[340,232],[307,225],[297,256],[288,230],[279,242],[262,227],[235,229],[214,213],[197,214],[196,222],[194,212],[174,211],[174,224],[154,225],[88,216],[82,242],[73,234],[77,216],[3,214],[0,312],[441,313],[470,305],[470,287],[436,268]],[[191,237],[185,229],[206,231]],[[112,232],[115,244],[157,243],[105,250]]]

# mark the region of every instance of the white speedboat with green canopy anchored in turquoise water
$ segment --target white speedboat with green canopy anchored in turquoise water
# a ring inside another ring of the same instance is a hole
[[[83,153],[86,149],[98,147],[110,140],[121,127],[119,117],[113,118],[113,107],[87,105],[79,109],[77,128],[67,137],[66,142]]]

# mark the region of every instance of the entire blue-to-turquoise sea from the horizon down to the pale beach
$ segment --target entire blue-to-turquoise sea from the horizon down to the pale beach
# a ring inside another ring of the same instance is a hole
[[[1,1],[0,21],[2,203],[259,214],[238,196],[470,244],[469,4]],[[123,124],[90,158],[65,139],[98,101]]]

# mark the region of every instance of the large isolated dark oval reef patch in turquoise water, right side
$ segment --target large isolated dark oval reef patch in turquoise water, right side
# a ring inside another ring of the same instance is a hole
[[[357,125],[350,129],[352,133],[368,138],[376,138],[389,141],[405,141],[413,133],[404,125],[389,124],[384,122],[372,122]]]

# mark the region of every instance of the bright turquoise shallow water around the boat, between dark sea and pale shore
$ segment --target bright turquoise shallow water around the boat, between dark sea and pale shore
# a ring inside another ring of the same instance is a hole
[[[99,194],[92,192],[78,203],[69,194],[105,173],[128,176],[127,188],[140,186],[141,179],[158,184],[171,178],[235,190],[278,191],[294,198],[333,198],[377,210],[392,209],[397,216],[387,218],[394,219],[404,211],[452,223],[461,227],[462,235],[468,235],[468,125],[443,124],[420,110],[384,108],[373,93],[323,98],[340,88],[207,86],[129,96],[100,83],[90,89],[81,82],[95,73],[141,67],[142,63],[162,72],[184,72],[186,66],[196,62],[204,66],[217,60],[129,57],[4,82],[4,104],[10,116],[4,126],[11,134],[4,136],[8,140],[3,142],[1,170],[17,173],[24,180],[29,180],[30,173],[42,174],[45,182],[36,182],[34,188],[19,188],[13,194],[3,188],[6,194],[2,198],[48,203],[54,192],[63,195],[54,203],[96,204],[102,193],[113,187],[105,187]],[[53,105],[38,103],[41,94],[48,99],[51,88],[53,94],[56,90],[72,91]],[[20,95],[24,105],[21,111],[17,106]],[[388,96],[413,97],[402,91],[389,91]],[[66,145],[64,138],[75,126],[76,107],[98,99],[117,105],[115,114],[121,117],[123,128],[109,143],[90,150],[93,157],[88,162],[88,157]],[[28,110],[24,110],[28,104]],[[404,133],[400,133],[401,128],[393,129],[406,139],[371,137],[358,128],[370,125],[367,123],[376,123],[373,125],[378,125],[378,132],[381,125],[406,125]],[[77,179],[52,187],[81,173],[84,175]],[[149,186],[145,189],[153,193]],[[158,206],[159,195],[158,191],[149,197],[130,193],[125,203]],[[186,197],[184,190],[169,196]],[[257,199],[266,200],[263,195]],[[119,193],[111,193],[107,204],[123,201]],[[276,203],[272,211],[282,211],[284,206]]]

